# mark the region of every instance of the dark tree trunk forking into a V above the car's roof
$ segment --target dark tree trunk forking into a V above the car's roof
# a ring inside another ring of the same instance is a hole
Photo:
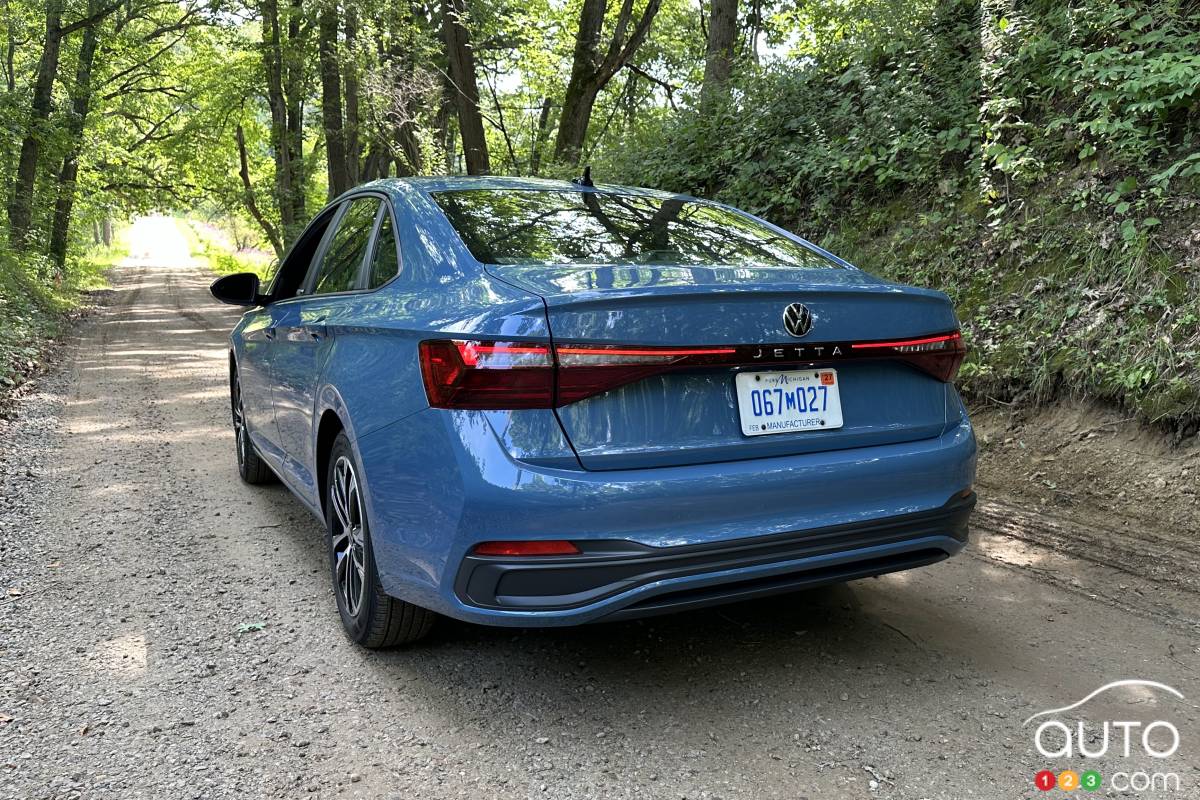
[[[661,5],[662,0],[648,0],[642,16],[630,30],[634,20],[634,0],[623,0],[617,13],[616,29],[601,58],[600,34],[608,4],[607,0],[583,0],[580,28],[575,35],[571,78],[566,84],[566,96],[563,98],[563,110],[558,118],[554,161],[580,163],[596,97],[646,41],[650,23],[654,22]]]

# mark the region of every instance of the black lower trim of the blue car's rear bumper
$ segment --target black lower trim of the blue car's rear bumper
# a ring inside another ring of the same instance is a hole
[[[580,542],[580,555],[468,555],[455,594],[467,606],[526,613],[630,599],[599,620],[698,608],[941,561],[966,545],[974,504],[968,493],[934,511],[715,545],[601,540]]]

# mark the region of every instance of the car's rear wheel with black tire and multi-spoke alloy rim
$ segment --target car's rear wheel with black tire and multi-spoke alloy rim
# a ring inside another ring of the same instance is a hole
[[[409,644],[430,632],[436,614],[384,593],[359,475],[350,440],[338,433],[325,473],[325,546],[337,612],[347,636],[365,648]]]

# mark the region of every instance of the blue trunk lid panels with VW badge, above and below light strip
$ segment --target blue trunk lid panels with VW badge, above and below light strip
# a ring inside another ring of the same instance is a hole
[[[539,294],[559,354],[580,345],[736,350],[737,366],[650,374],[557,409],[586,469],[610,470],[786,456],[938,435],[947,384],[894,344],[956,331],[946,295],[853,269],[488,265]],[[811,330],[785,330],[803,303]],[[868,345],[875,347],[875,345]],[[565,350],[564,350],[565,348]],[[582,350],[587,351],[587,350]],[[638,350],[629,350],[638,353]],[[565,360],[560,355],[560,369]],[[746,371],[832,369],[842,425],[748,437],[734,377]],[[563,374],[563,373],[560,373]],[[560,381],[563,379],[560,378]]]

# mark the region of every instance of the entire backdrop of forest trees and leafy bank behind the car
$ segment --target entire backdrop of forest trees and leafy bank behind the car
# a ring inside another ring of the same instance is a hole
[[[151,209],[214,270],[262,273],[364,181],[590,164],[944,289],[977,402],[1200,425],[1198,0],[6,10],[0,263],[25,336]]]

